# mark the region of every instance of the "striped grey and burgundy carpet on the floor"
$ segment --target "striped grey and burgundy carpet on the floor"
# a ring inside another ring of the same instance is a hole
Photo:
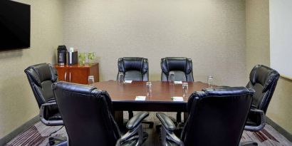
[[[59,130],[61,128],[61,130]],[[58,130],[58,132],[56,132]],[[149,130],[149,129],[148,129]],[[153,129],[155,130],[155,129]],[[43,125],[41,122],[37,122],[35,125],[29,127],[27,130],[19,134],[13,140],[6,144],[6,146],[46,146],[48,145],[48,137],[52,132],[52,136],[66,136],[65,127],[61,126],[53,126],[48,127]],[[148,139],[149,140],[149,139]],[[255,141],[258,142],[259,145],[275,145],[275,146],[288,146],[292,145],[290,141],[283,137],[280,133],[271,127],[271,125],[266,125],[264,130],[260,132],[248,132],[244,131],[242,135],[241,141]],[[151,143],[151,142],[147,142]]]

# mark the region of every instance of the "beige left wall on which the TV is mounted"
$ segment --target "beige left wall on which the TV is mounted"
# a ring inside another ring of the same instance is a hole
[[[63,43],[62,5],[59,0],[19,0],[31,4],[31,48],[0,52],[0,138],[38,114],[38,105],[24,69],[53,63]]]

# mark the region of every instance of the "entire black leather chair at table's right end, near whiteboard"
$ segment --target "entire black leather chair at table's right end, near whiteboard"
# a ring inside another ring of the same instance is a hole
[[[257,65],[251,70],[246,88],[253,88],[256,91],[251,109],[257,112],[249,113],[245,130],[260,131],[266,125],[266,110],[279,77],[280,75],[277,71],[267,66]]]

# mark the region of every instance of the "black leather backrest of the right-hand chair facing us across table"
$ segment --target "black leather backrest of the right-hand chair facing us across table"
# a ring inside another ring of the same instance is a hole
[[[170,71],[174,71],[176,81],[194,81],[192,75],[192,59],[185,57],[167,57],[161,59],[161,80],[168,81]]]

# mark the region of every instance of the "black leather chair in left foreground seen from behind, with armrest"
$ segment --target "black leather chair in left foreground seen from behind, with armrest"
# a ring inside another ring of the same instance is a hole
[[[141,121],[149,113],[141,112],[131,118],[127,122],[129,131],[121,136],[106,91],[61,81],[53,84],[53,93],[66,127],[68,145],[141,145],[147,139]]]

